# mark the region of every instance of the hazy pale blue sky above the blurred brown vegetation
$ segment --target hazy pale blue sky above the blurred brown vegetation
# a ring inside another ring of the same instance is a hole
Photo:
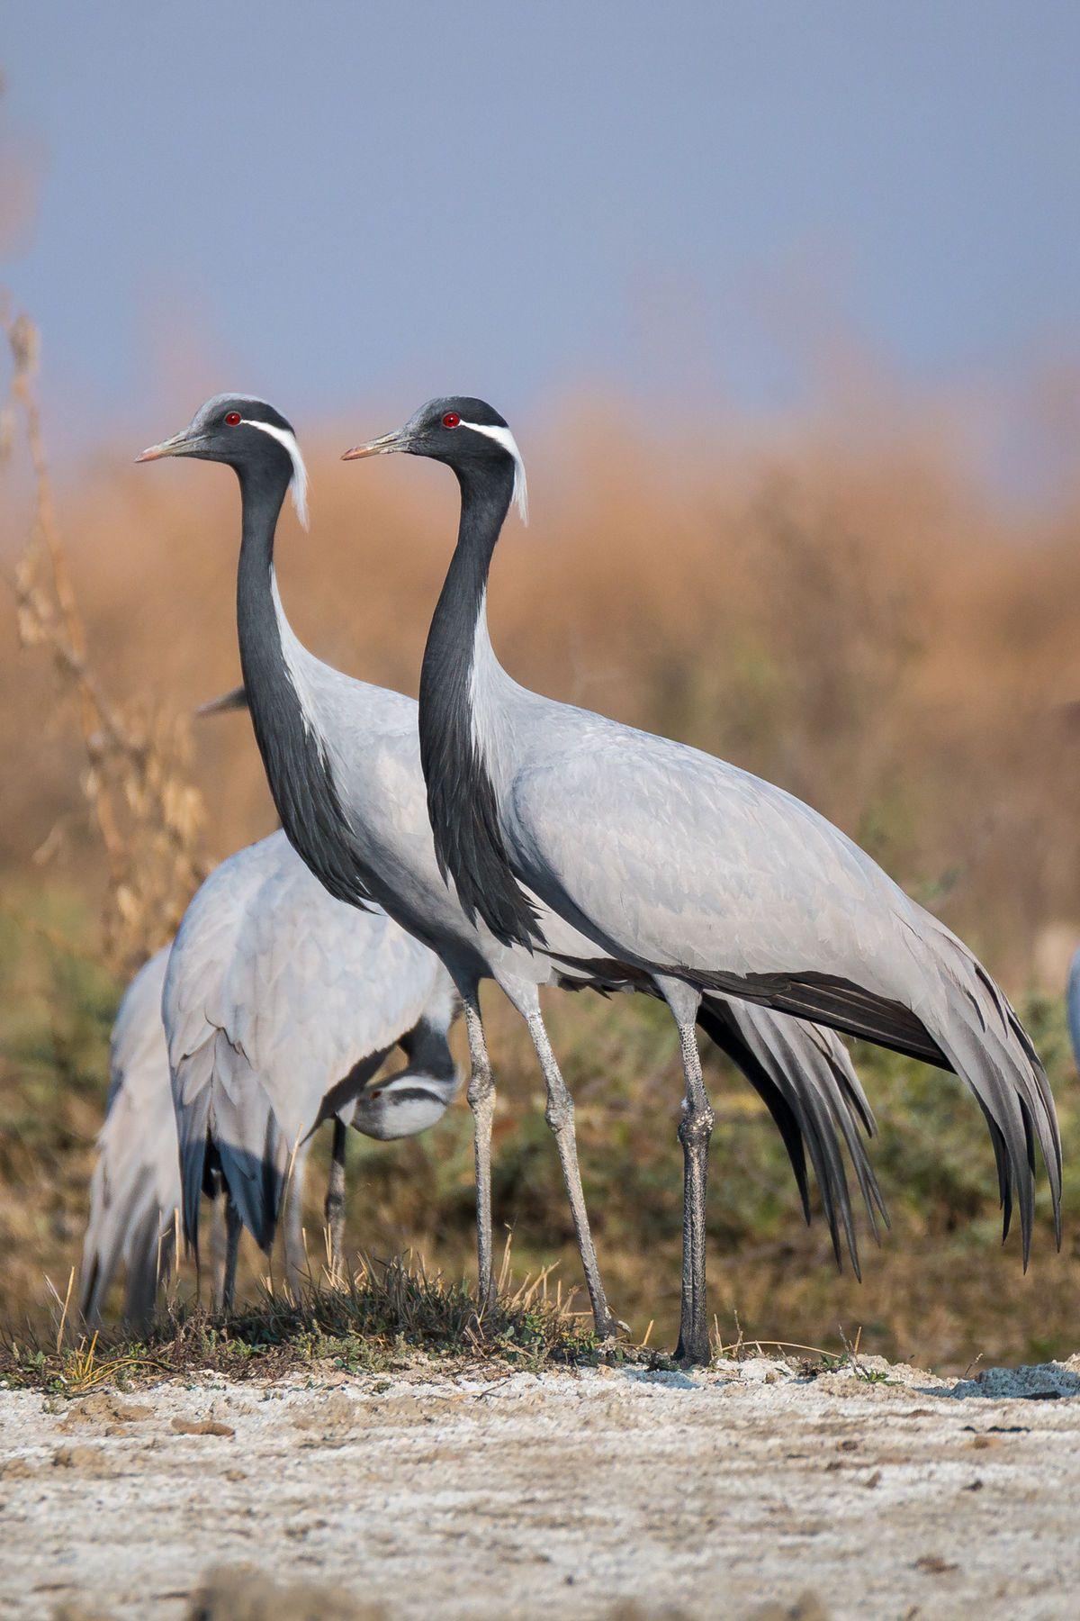
[[[204,383],[300,420],[581,381],[767,410],[831,329],[916,383],[1080,353],[1075,3],[5,21],[37,206],[3,277],[45,334],[60,460]]]

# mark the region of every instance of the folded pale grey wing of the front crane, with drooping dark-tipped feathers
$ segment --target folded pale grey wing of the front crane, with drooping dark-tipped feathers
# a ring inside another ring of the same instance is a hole
[[[997,1161],[1025,1258],[1035,1143],[1061,1200],[1041,1063],[986,969],[839,828],[696,749],[549,705],[515,739],[502,815],[515,875],[607,953],[701,990],[954,1070]]]

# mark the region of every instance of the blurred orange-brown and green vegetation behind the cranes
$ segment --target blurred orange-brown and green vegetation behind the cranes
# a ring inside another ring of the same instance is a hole
[[[1070,387],[1080,391],[1080,379]],[[348,421],[296,425],[313,472],[313,532],[283,520],[280,577],[313,648],[415,692],[455,493],[439,468],[340,465],[340,449],[390,426],[384,418],[361,402]],[[147,423],[142,438],[183,420]],[[491,614],[505,663],[555,697],[782,783],[941,913],[1030,1021],[1069,1174],[1077,1089],[1061,990],[1080,935],[1080,486],[1052,504],[1010,506],[968,457],[962,412],[947,399],[891,397],[881,383],[769,431],[730,413],[667,420],[661,431],[597,396],[515,426],[534,524],[528,535],[512,528],[495,562]],[[102,446],[53,496],[94,691],[110,694],[138,733],[126,772],[108,778],[112,746],[87,720],[92,695],[49,637],[18,647],[13,595],[0,600],[6,1321],[45,1315],[45,1276],[63,1294],[76,1260],[126,973],[170,934],[198,870],[275,825],[246,716],[201,721],[191,759],[183,736],[194,705],[238,679],[232,475],[136,470],[138,449]],[[45,579],[40,501],[21,456],[15,443],[0,498],[3,564],[13,575],[36,514],[31,574]],[[19,579],[24,590],[26,572]],[[159,770],[152,762],[165,757]],[[188,783],[202,804],[183,798]],[[108,849],[102,794],[117,823]],[[165,877],[141,888],[134,869],[160,864],[165,848]],[[497,1222],[513,1230],[520,1266],[559,1258],[572,1285],[539,1076],[491,992],[487,1012],[500,1086]],[[654,1337],[670,1337],[682,1096],[670,1029],[641,999],[552,995],[549,1015],[578,1101],[614,1303],[638,1334],[654,1318]],[[712,1305],[725,1337],[742,1328],[827,1347],[839,1324],[848,1336],[861,1326],[865,1347],[939,1367],[1075,1350],[1075,1177],[1064,1251],[1054,1255],[1041,1204],[1025,1277],[1017,1242],[999,1248],[993,1156],[975,1104],[952,1078],[892,1055],[860,1049],[858,1063],[881,1123],[874,1162],[894,1221],[881,1250],[866,1242],[861,1285],[837,1277],[821,1225],[801,1225],[779,1140],[745,1084],[711,1076]],[[415,1247],[429,1264],[471,1268],[463,1104],[415,1143],[356,1138],[351,1165],[353,1245],[374,1255]],[[317,1227],[313,1201],[313,1235]]]

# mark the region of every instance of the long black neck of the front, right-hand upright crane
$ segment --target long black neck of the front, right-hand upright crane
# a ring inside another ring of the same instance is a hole
[[[510,496],[513,468],[458,472],[458,543],[427,632],[419,676],[419,754],[436,856],[470,919],[479,914],[507,945],[541,940],[536,913],[518,887],[499,825],[495,789],[474,715],[476,676],[491,673],[487,574]]]

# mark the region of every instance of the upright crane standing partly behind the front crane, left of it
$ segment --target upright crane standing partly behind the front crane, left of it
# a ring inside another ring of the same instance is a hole
[[[206,402],[181,433],[139,460],[196,457],[230,465],[240,480],[241,543],[236,584],[240,658],[256,739],[290,843],[327,890],[353,906],[372,901],[445,963],[465,1005],[471,1075],[468,1101],[476,1143],[476,1229],[481,1298],[492,1298],[491,1122],[494,1080],[479,1013],[479,984],[495,979],[525,1018],[547,1088],[551,1125],[567,1185],[578,1250],[597,1332],[619,1324],[599,1277],[573,1133],[573,1102],[555,1062],[539,1007],[547,984],[648,990],[630,963],[599,961],[594,942],[544,914],[547,950],[521,947],[491,930],[466,895],[461,906],[444,882],[427,820],[413,699],[355,681],[317,660],[293,632],[274,575],[279,514],[290,490],[304,517],[306,470],[296,436],[272,405],[243,394]],[[857,1247],[840,1140],[847,1144],[871,1213],[884,1208],[858,1128],[873,1130],[844,1044],[832,1034],[711,989],[698,1021],[735,1060],[767,1104],[787,1146],[810,1213],[810,1154],[832,1242]]]

